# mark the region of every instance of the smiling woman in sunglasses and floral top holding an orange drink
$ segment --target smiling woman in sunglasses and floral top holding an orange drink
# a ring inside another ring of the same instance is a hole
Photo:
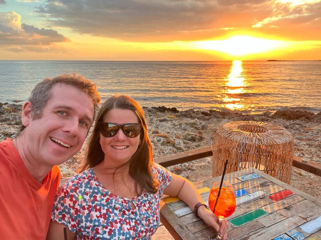
[[[193,184],[153,163],[143,109],[128,96],[113,96],[98,112],[81,173],[58,191],[47,239],[63,239],[65,227],[68,239],[150,239],[163,194],[196,205],[226,240],[226,220],[220,227]]]

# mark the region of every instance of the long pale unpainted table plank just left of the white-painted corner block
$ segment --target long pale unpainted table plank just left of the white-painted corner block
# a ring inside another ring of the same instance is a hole
[[[298,216],[287,218],[281,222],[278,222],[270,226],[269,228],[265,228],[259,231],[256,234],[244,237],[242,238],[242,240],[257,240],[257,239],[270,240],[277,236],[281,236],[284,232],[287,232],[293,228],[296,228],[297,226],[301,225],[304,222],[306,222],[306,220],[303,220]]]

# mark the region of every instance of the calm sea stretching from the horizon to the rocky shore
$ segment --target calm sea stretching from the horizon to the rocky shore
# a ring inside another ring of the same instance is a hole
[[[46,77],[78,73],[102,100],[126,94],[141,106],[259,114],[321,111],[321,61],[0,61],[0,102],[23,104]]]

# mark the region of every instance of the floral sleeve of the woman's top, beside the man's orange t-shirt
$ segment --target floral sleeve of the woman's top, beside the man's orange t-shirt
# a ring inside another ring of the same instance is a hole
[[[51,220],[62,223],[72,232],[76,231],[80,220],[78,183],[72,178],[58,190],[51,214]]]

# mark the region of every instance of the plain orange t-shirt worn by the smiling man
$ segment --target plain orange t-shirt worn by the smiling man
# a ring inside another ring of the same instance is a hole
[[[60,170],[34,179],[10,139],[0,142],[0,239],[46,239]]]

